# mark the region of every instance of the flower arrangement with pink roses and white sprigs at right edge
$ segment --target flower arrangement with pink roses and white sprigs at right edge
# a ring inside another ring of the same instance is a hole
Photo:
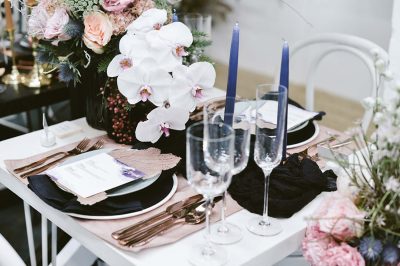
[[[356,134],[352,163],[338,159],[338,190],[308,225],[302,248],[312,265],[400,265],[400,85],[383,104],[368,98],[376,131]]]

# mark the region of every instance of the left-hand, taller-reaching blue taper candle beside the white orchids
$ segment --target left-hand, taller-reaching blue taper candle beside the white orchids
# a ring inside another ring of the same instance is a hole
[[[225,124],[232,125],[235,112],[236,82],[239,62],[239,23],[233,27],[231,52],[229,57],[228,85],[226,88]]]

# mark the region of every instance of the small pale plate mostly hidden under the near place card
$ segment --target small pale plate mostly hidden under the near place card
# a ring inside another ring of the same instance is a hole
[[[67,165],[67,164],[70,164],[73,162],[77,162],[79,160],[86,159],[86,158],[92,157],[97,154],[108,153],[112,150],[113,149],[100,149],[100,150],[83,153],[83,154],[74,156],[74,157],[66,160],[61,165]],[[108,197],[117,197],[117,196],[122,196],[122,195],[126,195],[129,193],[139,191],[139,190],[144,189],[144,188],[150,186],[151,184],[153,184],[160,177],[160,175],[161,175],[161,172],[156,174],[153,177],[146,178],[145,180],[139,179],[139,180],[129,182],[128,184],[122,185],[121,187],[113,188],[113,189],[107,191],[107,196]]]

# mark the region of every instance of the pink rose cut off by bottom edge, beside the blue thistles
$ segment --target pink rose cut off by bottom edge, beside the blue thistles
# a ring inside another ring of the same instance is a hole
[[[330,248],[325,253],[322,265],[326,266],[365,266],[365,261],[356,248],[346,243]]]

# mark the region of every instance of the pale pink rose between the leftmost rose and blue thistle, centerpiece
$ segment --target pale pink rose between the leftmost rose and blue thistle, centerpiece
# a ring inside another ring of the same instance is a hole
[[[62,40],[66,40],[64,34],[64,27],[68,24],[69,16],[64,8],[57,8],[53,16],[47,21],[46,29],[44,31],[44,37],[46,39],[54,39],[60,37]]]

